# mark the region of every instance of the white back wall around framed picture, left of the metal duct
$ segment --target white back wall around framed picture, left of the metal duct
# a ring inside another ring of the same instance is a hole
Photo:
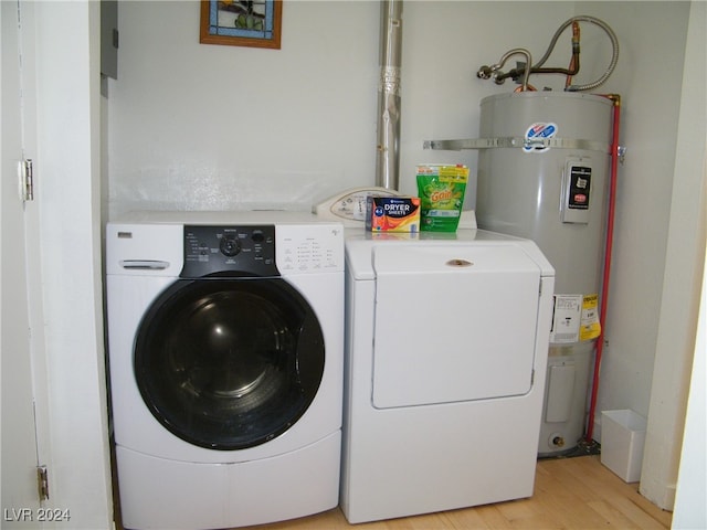
[[[110,213],[308,209],[372,183],[377,2],[287,2],[282,50],[199,44],[199,2],[122,2]]]

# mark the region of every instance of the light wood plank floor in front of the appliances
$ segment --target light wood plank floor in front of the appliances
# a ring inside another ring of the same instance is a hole
[[[663,511],[601,465],[599,456],[538,462],[535,494],[462,510],[349,524],[339,509],[257,530],[669,529]],[[243,530],[243,529],[241,529]]]

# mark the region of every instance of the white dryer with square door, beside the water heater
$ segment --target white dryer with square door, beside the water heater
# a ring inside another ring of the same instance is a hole
[[[538,247],[351,231],[346,266],[349,522],[531,496],[555,285]]]

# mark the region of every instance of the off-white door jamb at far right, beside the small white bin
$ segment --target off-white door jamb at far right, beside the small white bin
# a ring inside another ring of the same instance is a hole
[[[641,492],[658,506],[669,508],[675,501],[680,436],[685,430],[685,407],[690,371],[694,370],[693,358],[705,354],[704,350],[695,349],[695,330],[707,234],[705,224],[707,103],[704,88],[707,83],[706,28],[705,3],[695,2],[690,8],[683,72],[665,277],[641,477]],[[698,384],[698,375],[694,381]],[[696,389],[696,392],[699,391]],[[703,437],[704,426],[705,416],[703,415]],[[693,432],[695,428],[698,426],[693,424]],[[686,457],[686,462],[690,462],[689,455],[683,456]],[[704,471],[703,467],[703,478]]]

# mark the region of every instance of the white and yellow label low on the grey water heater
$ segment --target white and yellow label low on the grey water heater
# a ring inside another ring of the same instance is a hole
[[[555,295],[550,342],[592,340],[601,333],[598,295]]]

